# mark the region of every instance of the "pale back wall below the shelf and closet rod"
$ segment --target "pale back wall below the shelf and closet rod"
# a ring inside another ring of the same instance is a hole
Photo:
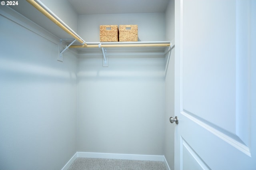
[[[163,155],[164,57],[80,57],[78,151]]]

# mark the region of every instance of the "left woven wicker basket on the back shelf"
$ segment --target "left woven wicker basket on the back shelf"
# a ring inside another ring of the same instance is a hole
[[[100,26],[100,42],[118,42],[119,31],[117,25]]]

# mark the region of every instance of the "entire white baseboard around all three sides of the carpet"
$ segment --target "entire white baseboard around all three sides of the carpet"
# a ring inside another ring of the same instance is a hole
[[[66,163],[62,170],[67,170],[76,158],[105,158],[105,159],[126,159],[126,160],[150,160],[163,161],[166,168],[170,167],[164,155],[139,155],[139,154],[111,154],[111,153],[96,153],[96,152],[76,152],[74,156]]]

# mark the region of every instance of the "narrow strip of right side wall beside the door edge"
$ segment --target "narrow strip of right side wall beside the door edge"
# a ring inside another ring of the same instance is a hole
[[[166,9],[166,39],[174,45],[174,0],[170,0]],[[172,170],[174,170],[174,129],[176,124],[171,124],[170,117],[174,115],[174,53],[175,48],[171,53],[166,55],[168,69],[165,78],[165,141],[164,141],[164,156]],[[169,59],[169,60],[168,60]]]

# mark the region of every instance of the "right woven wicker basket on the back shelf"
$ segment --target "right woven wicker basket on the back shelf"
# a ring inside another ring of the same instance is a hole
[[[137,42],[138,41],[138,25],[120,25],[119,26],[120,42]]]

